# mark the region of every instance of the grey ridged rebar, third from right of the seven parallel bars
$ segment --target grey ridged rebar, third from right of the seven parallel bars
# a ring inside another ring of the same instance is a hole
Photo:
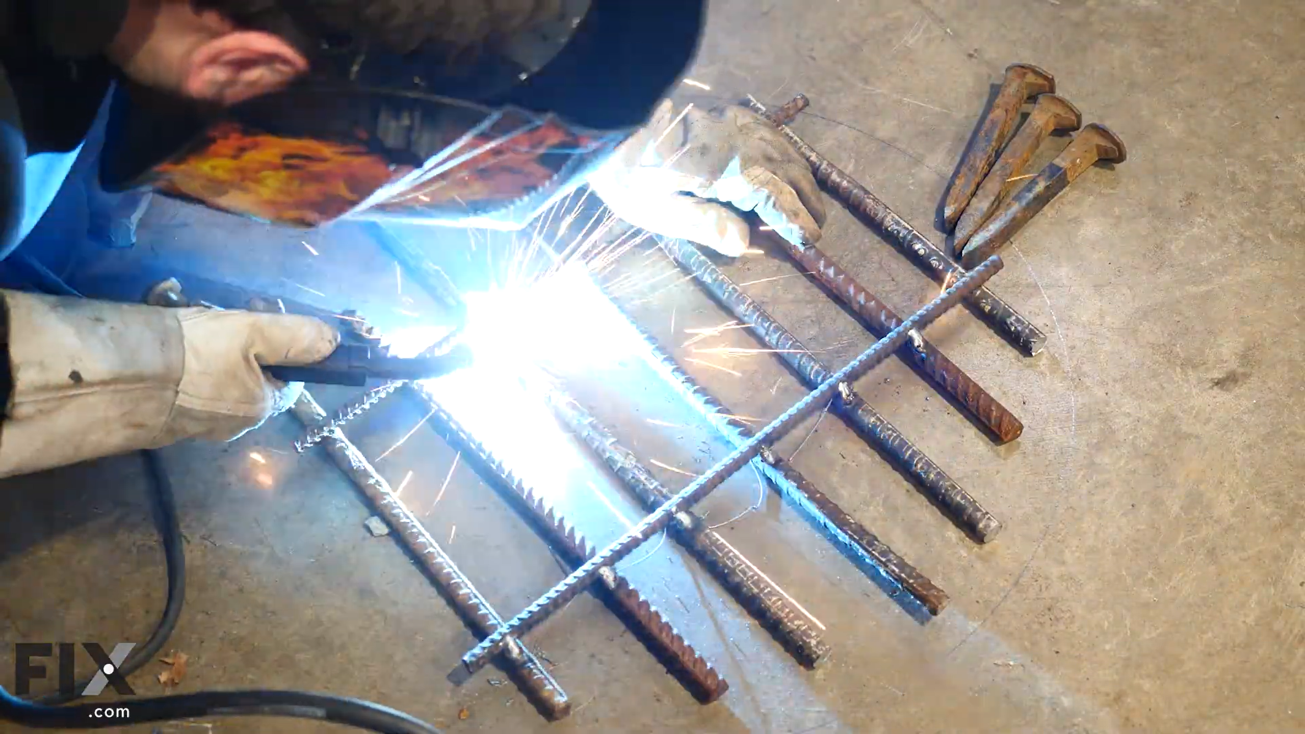
[[[660,240],[662,249],[713,299],[746,324],[809,388],[829,379],[830,370],[788,329],[729,279],[696,247],[684,240]],[[923,490],[957,525],[980,542],[993,539],[1001,522],[946,471],[880,415],[851,384],[842,385],[830,409],[867,443]]]

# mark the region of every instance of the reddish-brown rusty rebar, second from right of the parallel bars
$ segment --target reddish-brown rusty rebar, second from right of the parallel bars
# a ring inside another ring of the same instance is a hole
[[[827,287],[839,300],[855,312],[865,327],[882,336],[902,324],[898,316],[886,303],[865,286],[859,283],[847,270],[839,266],[830,256],[818,247],[809,244],[799,247],[784,240],[788,255],[816,279]],[[938,347],[929,343],[919,333],[902,346],[902,351],[911,358],[911,362],[924,372],[925,376],[951,396],[957,402],[974,415],[979,423],[987,428],[998,444],[1010,443],[1024,432],[1024,424],[1019,418],[1006,409],[997,398],[958,367]]]

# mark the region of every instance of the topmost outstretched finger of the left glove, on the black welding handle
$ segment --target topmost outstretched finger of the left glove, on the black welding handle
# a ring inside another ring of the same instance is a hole
[[[207,329],[244,332],[249,355],[264,367],[321,362],[339,343],[339,332],[312,316],[200,310],[181,316],[183,328],[198,320],[217,321]]]

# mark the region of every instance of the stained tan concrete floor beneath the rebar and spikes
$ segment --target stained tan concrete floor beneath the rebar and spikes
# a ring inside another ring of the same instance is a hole
[[[282,418],[235,444],[164,452],[189,541],[187,607],[171,643],[192,656],[180,690],[331,691],[449,731],[1305,730],[1302,35],[1305,7],[1279,0],[714,3],[693,77],[726,99],[806,93],[813,104],[796,129],[921,229],[1007,63],[1052,71],[1087,120],[1129,145],[1128,163],[1087,172],[1005,252],[993,290],[1048,330],[1043,355],[1019,357],[963,310],[929,330],[1019,414],[1019,441],[994,448],[899,360],[857,385],[1004,520],[994,543],[970,542],[835,417],[782,444],[792,453],[805,439],[795,464],[945,588],[951,606],[917,623],[766,490],[722,532],[823,623],[831,661],[804,671],[671,543],[650,545],[655,552],[624,567],[731,691],[696,704],[581,597],[529,636],[574,700],[572,717],[549,725],[493,669],[463,687],[445,680],[472,636],[392,539],[364,533],[371,512],[342,475],[320,455],[290,451],[298,427]],[[309,236],[320,257],[295,232],[157,206],[136,251],[115,256],[188,259],[189,272],[209,276],[243,270],[251,287],[402,325],[375,295],[392,293],[384,257],[346,251],[348,227]],[[442,239],[445,256],[466,253],[457,249],[466,235],[432,236]],[[833,202],[825,246],[903,311],[936,293]],[[638,255],[620,272],[636,266],[647,277],[671,269]],[[729,270],[739,281],[795,273],[770,253]],[[870,343],[801,277],[748,290],[827,362]],[[625,295],[664,343],[727,320],[673,277]],[[739,332],[711,345],[756,346]],[[573,392],[629,445],[688,470],[722,456],[701,421],[616,357],[591,363],[587,380],[579,372]],[[739,413],[771,417],[803,394],[773,357],[707,359],[743,374],[693,366]],[[322,392],[328,402],[347,394]],[[495,405],[480,411],[491,427]],[[392,400],[350,431],[377,456],[420,417]],[[613,515],[636,517],[633,504],[574,445],[545,435],[531,447],[547,457],[532,479],[579,513],[595,542],[613,538]],[[422,430],[378,468],[394,483],[412,471],[405,499],[489,601],[515,613],[562,571],[465,465],[436,509],[453,461]],[[686,481],[659,473],[671,486]],[[140,461],[5,485],[0,639],[140,640],[163,598]],[[740,475],[702,509],[726,521],[757,491]],[[134,677],[137,691],[157,692],[162,667]],[[8,663],[0,682],[12,683]]]

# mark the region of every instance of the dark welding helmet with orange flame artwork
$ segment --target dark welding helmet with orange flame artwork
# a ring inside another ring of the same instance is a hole
[[[697,48],[705,0],[560,0],[462,57],[397,54],[277,0],[311,71],[204,110],[120,85],[100,182],[260,219],[519,227],[646,121]]]

